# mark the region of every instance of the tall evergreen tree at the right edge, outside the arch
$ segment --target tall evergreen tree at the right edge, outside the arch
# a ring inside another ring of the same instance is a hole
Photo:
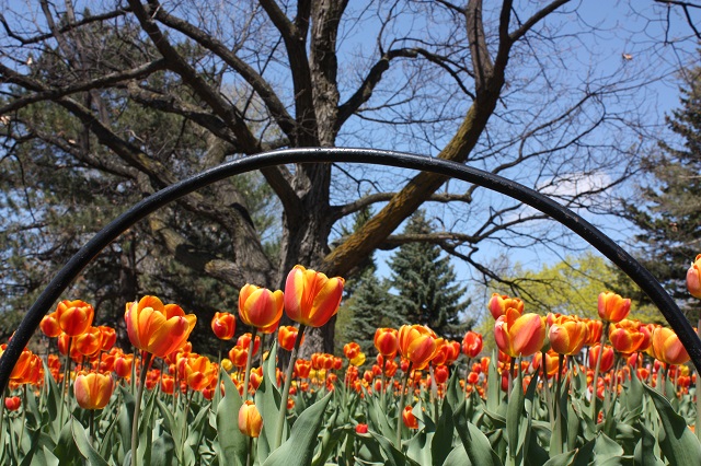
[[[673,296],[688,298],[686,271],[701,253],[701,78],[682,90],[681,108],[667,117],[682,147],[662,142],[644,165],[655,179],[642,186],[643,202],[624,202],[625,215],[641,230],[641,261]],[[639,295],[641,301],[645,296]]]

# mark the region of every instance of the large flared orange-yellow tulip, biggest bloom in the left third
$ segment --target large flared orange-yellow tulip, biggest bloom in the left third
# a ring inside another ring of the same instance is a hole
[[[185,315],[176,304],[163,305],[156,296],[127,303],[124,319],[131,345],[161,358],[185,345],[197,322],[194,314]]]

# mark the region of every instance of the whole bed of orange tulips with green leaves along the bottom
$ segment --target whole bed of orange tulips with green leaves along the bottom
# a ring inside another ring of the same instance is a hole
[[[701,299],[701,255],[687,284]],[[602,292],[587,319],[494,293],[490,351],[474,331],[405,323],[378,328],[371,354],[350,341],[298,358],[343,287],[301,266],[283,291],[244,286],[211,321],[226,350],[209,356],[188,341],[197,317],[156,296],[126,304],[129,348],[89,303],[60,302],[41,324],[55,350],[25,349],[3,394],[0,464],[701,464],[701,381],[671,329],[628,318],[629,299]],[[234,339],[238,323],[254,330]]]

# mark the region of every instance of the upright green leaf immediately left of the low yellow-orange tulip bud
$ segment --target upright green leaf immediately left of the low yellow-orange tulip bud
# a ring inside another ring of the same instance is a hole
[[[239,430],[239,410],[243,401],[228,375],[223,377],[225,396],[217,407],[219,464],[245,464],[249,439]]]

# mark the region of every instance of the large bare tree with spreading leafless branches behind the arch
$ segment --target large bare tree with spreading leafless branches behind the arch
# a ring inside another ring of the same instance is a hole
[[[597,26],[567,0],[485,3],[128,0],[77,11],[70,0],[39,0],[22,12],[7,8],[5,162],[38,144],[148,194],[269,149],[399,147],[516,178],[571,207],[600,208],[655,129],[642,103],[659,74],[629,60],[608,73],[586,63],[594,59],[582,55],[591,51],[585,36],[596,37]],[[161,125],[134,125],[143,115]],[[429,173],[318,164],[262,175],[283,212],[276,255],[232,183],[180,206],[216,225],[220,247],[202,247],[168,211],[150,219],[152,241],[234,287],[280,287],[295,264],[348,275],[372,251],[406,241],[435,242],[498,279],[480,245],[560,241],[539,212]],[[427,201],[445,230],[393,236]],[[375,215],[340,237],[336,226],[368,206]],[[308,342],[331,350],[333,326]]]

